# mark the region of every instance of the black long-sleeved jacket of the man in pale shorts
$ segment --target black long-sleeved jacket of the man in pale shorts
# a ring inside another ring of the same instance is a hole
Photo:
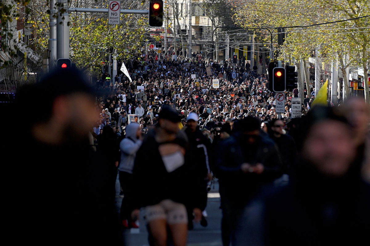
[[[179,131],[176,139],[170,142],[185,149],[185,163],[174,171],[168,172],[159,153],[158,146],[160,143],[155,140],[156,131],[156,129],[153,129],[147,133],[136,154],[133,170],[135,186],[132,201],[134,201],[134,207],[141,208],[155,205],[162,200],[171,199],[187,207],[200,208],[201,201],[196,199],[199,196],[194,195],[199,191],[191,179],[186,135]]]

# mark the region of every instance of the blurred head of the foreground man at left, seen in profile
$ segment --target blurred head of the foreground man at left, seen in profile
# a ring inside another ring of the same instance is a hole
[[[17,93],[18,108],[34,105],[25,112],[29,132],[37,141],[58,145],[84,139],[97,121],[94,90],[77,69],[57,69],[40,82]]]

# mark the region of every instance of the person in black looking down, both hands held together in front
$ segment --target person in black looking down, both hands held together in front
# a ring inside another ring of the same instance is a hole
[[[222,242],[229,246],[244,207],[263,185],[281,175],[281,161],[273,141],[260,134],[258,119],[246,117],[235,125],[235,134],[219,146],[216,167],[221,195]]]

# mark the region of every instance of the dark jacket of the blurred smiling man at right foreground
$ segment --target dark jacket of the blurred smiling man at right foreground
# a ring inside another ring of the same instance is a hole
[[[352,166],[330,179],[298,164],[288,186],[267,191],[245,210],[233,245],[369,244],[370,186],[359,171]]]

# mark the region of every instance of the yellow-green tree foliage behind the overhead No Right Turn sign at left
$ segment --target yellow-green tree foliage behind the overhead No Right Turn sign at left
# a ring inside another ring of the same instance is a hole
[[[108,0],[70,0],[70,8],[108,8]],[[28,21],[34,30],[33,45],[48,58],[49,6],[43,0],[30,4]],[[144,1],[122,2],[124,9],[147,9]],[[90,75],[100,72],[101,62],[107,62],[114,53],[117,59],[125,59],[139,50],[148,35],[148,19],[145,15],[121,14],[120,25],[108,25],[106,13],[70,13],[70,58],[80,69]],[[111,64],[109,63],[109,66]]]

